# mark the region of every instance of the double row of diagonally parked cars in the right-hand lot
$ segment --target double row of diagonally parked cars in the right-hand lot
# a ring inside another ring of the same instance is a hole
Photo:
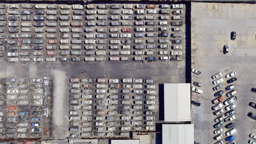
[[[225,78],[229,79],[235,75],[236,75],[236,72],[231,71],[230,73],[225,75]],[[213,85],[218,85],[218,86],[213,87],[214,91],[223,88],[223,84],[220,84],[220,83],[224,82],[224,79],[221,78],[222,76],[223,76],[222,72],[219,72],[212,76],[212,79],[214,80],[214,81],[212,81]],[[236,80],[237,80],[236,77],[233,77],[233,78],[229,79],[227,81],[227,83],[231,83]],[[234,85],[229,85],[229,86],[225,87],[225,90],[227,91],[226,97],[230,97],[229,99],[227,99],[225,101],[224,101],[225,98],[222,96],[222,94],[224,94],[224,91],[220,90],[220,91],[214,93],[214,97],[218,97],[212,101],[213,104],[216,104],[216,105],[212,106],[212,110],[214,110],[213,115],[218,116],[217,118],[214,119],[214,122],[217,122],[217,123],[213,125],[214,128],[218,128],[213,131],[213,133],[216,134],[216,136],[214,136],[213,138],[215,140],[218,140],[218,142],[216,142],[216,144],[223,144],[222,133],[224,133],[225,130],[223,128],[220,128],[224,124],[222,121],[230,122],[235,119],[235,116],[234,116],[235,110],[234,109],[235,109],[236,105],[234,104],[234,101],[237,99],[237,97],[235,96],[236,91],[233,88],[235,88]],[[226,105],[225,113],[224,113],[224,110],[222,109],[222,107],[223,107],[222,102],[224,105]],[[219,116],[219,115],[222,115],[222,113],[224,113],[226,118],[224,118],[224,116]],[[229,141],[228,142],[229,144],[236,143],[235,141],[233,141],[235,139],[235,137],[232,136],[233,134],[236,133],[236,129],[234,128],[234,126],[235,126],[235,124],[232,122],[225,125],[225,128],[228,129],[227,131],[225,131],[225,135],[227,136],[225,138],[225,141]]]

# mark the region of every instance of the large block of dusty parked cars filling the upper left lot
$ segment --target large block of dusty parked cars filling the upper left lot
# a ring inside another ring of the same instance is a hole
[[[184,61],[185,4],[1,4],[1,61]]]

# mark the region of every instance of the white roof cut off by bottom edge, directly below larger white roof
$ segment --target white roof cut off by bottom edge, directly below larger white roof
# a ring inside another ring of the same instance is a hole
[[[162,144],[194,144],[194,124],[163,124]]]

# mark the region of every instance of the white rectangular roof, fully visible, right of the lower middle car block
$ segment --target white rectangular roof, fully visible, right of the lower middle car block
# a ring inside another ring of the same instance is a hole
[[[164,84],[164,115],[166,122],[191,121],[190,83]]]

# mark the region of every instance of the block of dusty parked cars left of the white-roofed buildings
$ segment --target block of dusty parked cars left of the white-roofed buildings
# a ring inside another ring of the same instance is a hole
[[[130,131],[155,131],[158,119],[155,80],[70,81],[69,131],[72,135],[129,137]]]

